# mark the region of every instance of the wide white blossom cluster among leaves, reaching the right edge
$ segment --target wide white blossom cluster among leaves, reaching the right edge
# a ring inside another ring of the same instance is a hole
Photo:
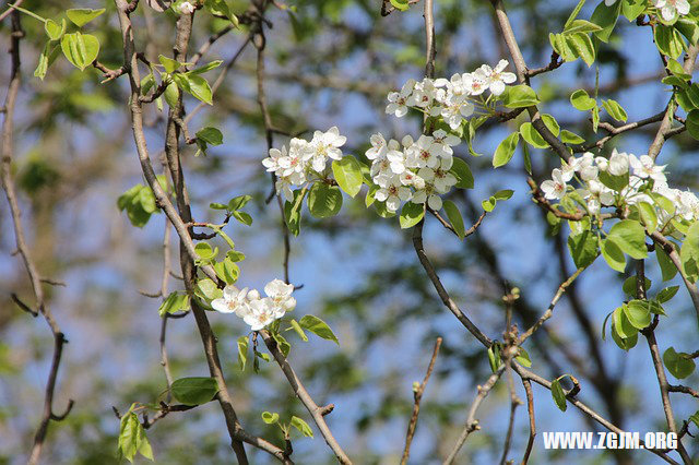
[[[657,208],[660,226],[663,228],[674,217],[692,220],[699,219],[699,199],[690,191],[673,189],[667,184],[665,176],[666,165],[656,165],[648,155],[637,157],[633,154],[612,152],[609,158],[597,156],[588,152],[580,157],[570,157],[561,168],[552,171],[552,179],[541,184],[544,196],[548,200],[560,200],[568,192],[576,190],[569,182],[573,178],[582,187],[577,192],[585,200],[588,211],[596,215],[605,206],[635,205],[647,202],[654,205],[656,202],[650,193],[660,194],[675,205],[675,215],[671,216],[665,210]],[[601,174],[615,177],[629,176],[628,184],[620,191],[615,191],[605,186],[601,180]]]

